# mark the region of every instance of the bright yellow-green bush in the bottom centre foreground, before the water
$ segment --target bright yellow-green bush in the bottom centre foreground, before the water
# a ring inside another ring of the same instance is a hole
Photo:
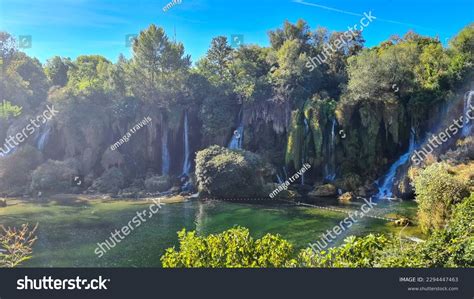
[[[183,229],[178,238],[179,251],[168,248],[161,257],[165,268],[271,268],[292,262],[293,246],[288,241],[271,234],[254,240],[242,227],[207,237]]]

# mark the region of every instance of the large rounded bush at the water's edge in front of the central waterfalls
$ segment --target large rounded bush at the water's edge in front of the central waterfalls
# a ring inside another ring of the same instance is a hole
[[[216,197],[268,196],[264,176],[269,168],[256,154],[217,145],[197,153],[199,192]]]

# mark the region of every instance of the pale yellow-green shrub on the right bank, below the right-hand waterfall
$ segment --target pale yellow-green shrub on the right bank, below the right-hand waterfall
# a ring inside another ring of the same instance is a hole
[[[424,232],[444,227],[453,204],[469,195],[468,186],[448,172],[445,163],[428,166],[415,177],[418,218]]]

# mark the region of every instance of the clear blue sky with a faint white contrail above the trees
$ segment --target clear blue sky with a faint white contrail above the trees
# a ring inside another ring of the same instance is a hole
[[[0,0],[0,30],[32,37],[23,49],[42,62],[54,56],[100,54],[116,61],[130,57],[125,36],[154,23],[185,46],[195,62],[213,37],[242,34],[244,43],[268,45],[268,30],[285,20],[304,19],[312,30],[344,31],[372,11],[377,19],[364,30],[366,46],[409,29],[438,35],[443,42],[474,21],[473,0]]]

